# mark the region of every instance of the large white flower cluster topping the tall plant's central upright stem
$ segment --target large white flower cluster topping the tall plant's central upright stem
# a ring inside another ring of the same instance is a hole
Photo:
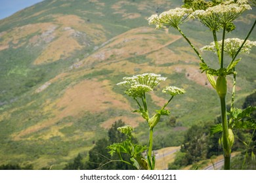
[[[236,2],[231,0],[209,7],[206,10],[196,10],[192,15],[211,30],[218,30],[223,25],[236,20],[242,12],[249,9],[251,9],[251,6],[247,3],[247,0],[238,0]]]

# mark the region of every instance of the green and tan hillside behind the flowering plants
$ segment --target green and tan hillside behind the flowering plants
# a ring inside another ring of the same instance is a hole
[[[147,143],[146,124],[131,112],[135,103],[116,86],[127,75],[158,73],[168,77],[161,86],[186,90],[169,106],[177,127],[166,127],[169,116],[156,128],[156,148],[179,146],[186,128],[214,120],[219,99],[200,73],[199,59],[174,29],[155,30],[146,20],[179,3],[46,0],[0,20],[0,164],[60,169],[86,154],[119,119],[137,127],[138,139]],[[228,37],[243,39],[253,18],[255,9],[235,22]],[[211,42],[198,22],[182,29],[198,48]],[[203,56],[217,65],[213,55]],[[255,49],[242,57],[238,105],[256,86]],[[150,98],[154,108],[166,100],[161,90]]]

